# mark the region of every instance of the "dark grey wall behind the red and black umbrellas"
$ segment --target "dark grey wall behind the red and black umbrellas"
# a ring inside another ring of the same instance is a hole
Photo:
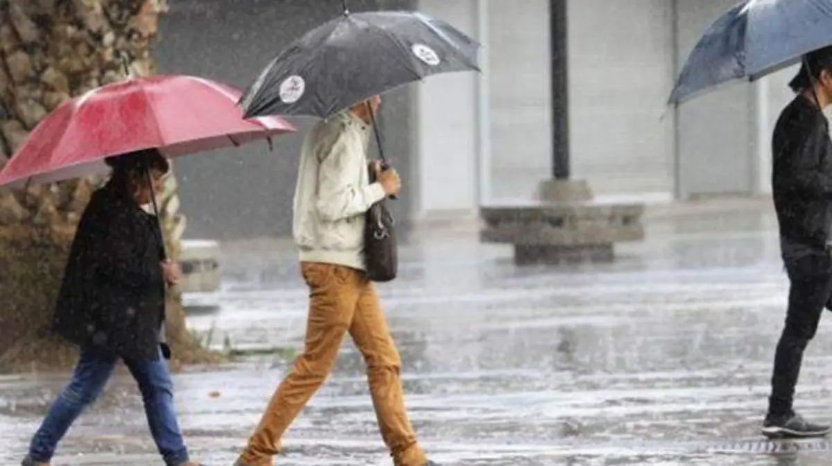
[[[160,71],[205,76],[244,88],[295,37],[340,14],[340,2],[309,0],[169,0],[156,57]],[[411,0],[350,0],[353,11],[413,9]],[[412,90],[385,96],[381,115],[387,154],[404,192],[392,208],[409,217],[414,203]],[[300,143],[312,119],[290,119],[295,135],[176,161],[189,238],[256,238],[291,231],[291,204]],[[399,222],[400,229],[406,228]],[[403,231],[404,233],[404,231]]]

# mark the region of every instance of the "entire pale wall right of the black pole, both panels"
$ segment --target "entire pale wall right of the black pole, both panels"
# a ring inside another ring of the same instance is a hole
[[[666,106],[701,34],[735,0],[567,1],[576,178],[597,194],[770,192],[770,136],[794,67]]]

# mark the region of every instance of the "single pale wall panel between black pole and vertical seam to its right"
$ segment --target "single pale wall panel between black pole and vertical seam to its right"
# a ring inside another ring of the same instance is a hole
[[[672,2],[568,0],[567,18],[572,176],[596,194],[670,193]]]

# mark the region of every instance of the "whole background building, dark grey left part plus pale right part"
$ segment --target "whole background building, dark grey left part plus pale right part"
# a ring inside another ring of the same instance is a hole
[[[388,96],[386,150],[407,192],[399,216],[476,215],[531,199],[552,174],[550,2],[567,4],[573,178],[598,197],[671,201],[770,192],[770,132],[793,69],[666,105],[701,32],[735,0],[351,0],[418,9],[483,44],[483,74],[433,76]],[[334,17],[335,0],[171,0],[163,71],[245,86],[292,37]],[[314,4],[314,6],[312,6]],[[302,122],[301,132],[309,127]],[[300,135],[179,165],[191,232],[239,238],[289,231]]]

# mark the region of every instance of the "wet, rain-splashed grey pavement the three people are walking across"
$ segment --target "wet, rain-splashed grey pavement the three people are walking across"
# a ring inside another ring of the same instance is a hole
[[[616,263],[559,268],[515,267],[510,248],[474,233],[419,235],[379,292],[423,446],[447,465],[830,464],[825,441],[757,434],[785,313],[773,222],[754,210],[653,220]],[[219,310],[194,312],[191,326],[217,349],[300,348],[292,253],[278,243],[224,264]],[[816,419],[832,414],[827,326],[798,387],[798,410]],[[194,456],[230,465],[286,367],[256,356],[176,375]],[[15,464],[66,379],[0,378],[0,464]],[[390,464],[351,343],[285,445],[275,464]],[[129,377],[77,421],[54,464],[161,464]]]

